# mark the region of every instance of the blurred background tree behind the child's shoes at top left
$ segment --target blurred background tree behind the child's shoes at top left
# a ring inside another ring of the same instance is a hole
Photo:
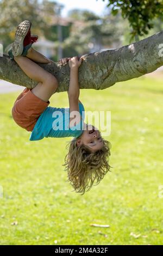
[[[22,20],[32,21],[32,31],[43,35],[49,29],[49,20],[55,15],[55,2],[48,0],[1,0],[0,41],[4,48],[15,38],[15,27]]]

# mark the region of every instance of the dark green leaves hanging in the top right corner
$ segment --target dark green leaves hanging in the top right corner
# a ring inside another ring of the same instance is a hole
[[[132,28],[130,41],[134,38],[138,41],[139,35],[148,34],[149,29],[154,26],[153,20],[155,17],[159,17],[163,21],[162,0],[109,0],[107,6],[114,15],[121,9],[122,17],[128,19]]]

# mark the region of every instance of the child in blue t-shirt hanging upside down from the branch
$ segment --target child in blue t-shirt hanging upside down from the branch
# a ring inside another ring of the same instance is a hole
[[[78,83],[82,57],[63,58],[59,61],[60,65],[68,63],[70,66],[70,86],[67,92],[70,107],[48,106],[50,97],[58,88],[58,81],[54,75],[37,65],[53,61],[32,47],[38,36],[30,34],[31,25],[28,20],[18,25],[15,41],[8,47],[8,54],[38,84],[33,89],[24,89],[17,97],[12,117],[19,126],[31,132],[30,141],[44,137],[73,137],[66,146],[69,149],[63,165],[66,166],[68,181],[74,190],[84,194],[86,188],[89,191],[93,183],[96,181],[97,185],[110,170],[108,161],[111,144],[101,137],[95,126],[84,123],[85,109],[79,101]]]

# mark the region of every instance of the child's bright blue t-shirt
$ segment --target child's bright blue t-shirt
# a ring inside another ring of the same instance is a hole
[[[85,109],[79,102],[82,117],[77,125],[69,127],[70,108],[47,107],[37,120],[30,141],[39,141],[44,137],[79,137],[84,130]]]

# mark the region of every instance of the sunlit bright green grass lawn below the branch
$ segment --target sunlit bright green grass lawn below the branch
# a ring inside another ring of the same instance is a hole
[[[141,77],[80,91],[86,111],[111,111],[105,139],[114,167],[83,196],[72,192],[61,166],[69,138],[30,142],[30,132],[11,117],[17,95],[0,95],[1,245],[161,245],[162,82]],[[51,106],[68,106],[67,93],[53,95]]]

